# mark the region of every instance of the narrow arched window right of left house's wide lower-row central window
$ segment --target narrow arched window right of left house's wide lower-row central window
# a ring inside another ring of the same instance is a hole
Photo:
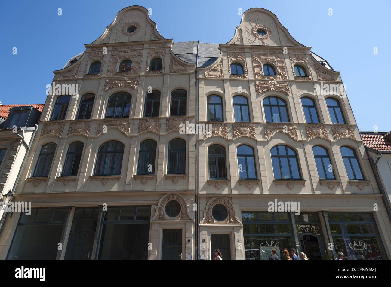
[[[138,175],[153,175],[155,173],[156,141],[147,139],[140,144],[138,153]]]

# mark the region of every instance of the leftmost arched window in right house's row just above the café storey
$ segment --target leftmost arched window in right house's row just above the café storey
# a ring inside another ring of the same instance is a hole
[[[209,178],[227,179],[225,148],[219,144],[213,144],[208,148]]]

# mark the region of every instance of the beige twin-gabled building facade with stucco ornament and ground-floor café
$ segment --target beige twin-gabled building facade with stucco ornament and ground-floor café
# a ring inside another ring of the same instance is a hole
[[[67,92],[45,102],[3,259],[390,258],[339,72],[272,12],[219,45],[173,43],[131,6],[85,47],[54,71]]]

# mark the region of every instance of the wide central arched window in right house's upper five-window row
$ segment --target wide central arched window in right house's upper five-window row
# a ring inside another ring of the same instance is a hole
[[[287,104],[277,97],[267,97],[263,101],[267,123],[289,123]]]

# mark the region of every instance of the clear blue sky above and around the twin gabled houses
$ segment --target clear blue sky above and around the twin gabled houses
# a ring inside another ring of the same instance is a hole
[[[272,11],[292,37],[325,58],[341,77],[362,131],[391,130],[391,1],[3,1],[0,101],[44,103],[53,70],[84,51],[118,11],[152,8],[159,33],[174,42],[226,43],[240,23],[238,9]],[[61,8],[63,16],[57,16]],[[328,9],[333,15],[328,15]],[[16,47],[17,55],[12,54]],[[378,48],[378,55],[373,48]],[[28,71],[23,73],[23,70]],[[30,72],[29,72],[30,71]]]

